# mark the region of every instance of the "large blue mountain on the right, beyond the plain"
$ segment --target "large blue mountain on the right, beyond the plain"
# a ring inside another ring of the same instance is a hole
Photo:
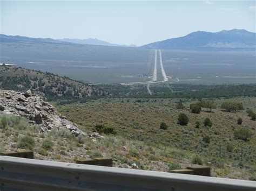
[[[171,38],[142,46],[143,48],[255,48],[256,33],[233,29],[230,31],[197,31],[184,37]]]

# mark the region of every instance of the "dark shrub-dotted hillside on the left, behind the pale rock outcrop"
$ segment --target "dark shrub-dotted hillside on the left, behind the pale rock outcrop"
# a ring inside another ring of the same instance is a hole
[[[0,89],[26,91],[41,94],[48,100],[82,98],[86,96],[110,96],[105,91],[86,83],[36,70],[0,66]]]

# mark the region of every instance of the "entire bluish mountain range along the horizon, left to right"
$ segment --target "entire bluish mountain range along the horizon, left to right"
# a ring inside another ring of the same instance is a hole
[[[137,47],[136,45],[117,45],[98,39],[51,39],[51,38],[29,38],[21,36],[7,36],[0,34],[0,42],[6,43],[29,43],[29,44],[62,44],[78,47],[83,46],[114,46],[114,47]],[[220,32],[197,31],[184,37],[171,38],[155,43],[140,46],[139,48],[153,49],[254,49],[256,48],[256,33],[246,30],[223,30]]]

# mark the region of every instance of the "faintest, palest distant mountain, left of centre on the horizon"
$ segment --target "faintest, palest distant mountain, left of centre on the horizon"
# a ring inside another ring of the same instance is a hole
[[[70,39],[70,38],[63,38],[57,39],[59,41],[68,42],[68,43],[75,43],[75,44],[85,44],[85,45],[100,45],[100,46],[122,46],[122,47],[138,47],[136,45],[117,45],[111,44],[103,40],[99,40],[97,38],[88,38],[88,39]]]

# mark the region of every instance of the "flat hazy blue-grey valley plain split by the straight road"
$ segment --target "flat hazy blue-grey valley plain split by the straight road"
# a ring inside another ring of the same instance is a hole
[[[178,77],[181,83],[193,84],[255,82],[254,51],[186,49],[161,52],[166,75],[172,77],[170,81]],[[90,83],[139,82],[151,80],[154,49],[7,37],[1,41],[0,61]]]

